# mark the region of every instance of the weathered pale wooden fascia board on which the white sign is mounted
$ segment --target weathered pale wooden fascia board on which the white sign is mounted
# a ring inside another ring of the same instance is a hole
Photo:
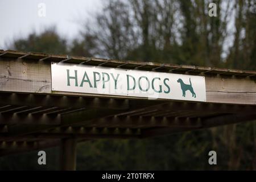
[[[97,60],[97,59],[96,59]],[[150,65],[150,63],[147,63]],[[157,65],[160,66],[161,64]],[[184,69],[194,69],[184,67]],[[223,72],[222,69],[214,69]],[[207,102],[256,105],[255,77],[205,75]],[[51,65],[47,61],[32,61],[0,57],[0,91],[46,93],[66,96],[135,98],[51,90]],[[144,100],[145,98],[137,98]]]

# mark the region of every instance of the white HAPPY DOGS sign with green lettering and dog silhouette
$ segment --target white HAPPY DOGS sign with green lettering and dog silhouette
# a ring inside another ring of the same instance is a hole
[[[205,78],[133,69],[52,63],[52,90],[206,101]]]

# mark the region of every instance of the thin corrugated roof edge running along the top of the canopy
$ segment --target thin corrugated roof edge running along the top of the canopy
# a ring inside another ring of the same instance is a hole
[[[114,59],[101,59],[96,57],[57,55],[41,52],[20,52],[0,49],[0,57],[14,57],[19,59],[30,59],[36,61],[58,61],[63,63],[101,65],[112,68],[141,69],[147,71],[189,73],[197,74],[220,74],[230,76],[256,77],[256,71],[245,71],[239,69],[227,69],[216,67],[199,67],[195,65],[161,64],[149,61],[123,61]]]

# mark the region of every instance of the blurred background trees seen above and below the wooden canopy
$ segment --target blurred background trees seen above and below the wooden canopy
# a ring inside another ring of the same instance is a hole
[[[217,17],[208,16],[210,2]],[[112,0],[67,43],[55,28],[10,43],[10,49],[110,59],[256,69],[254,0]],[[56,151],[56,148],[49,150]],[[208,152],[217,151],[217,166]],[[19,155],[21,156],[21,155]],[[31,153],[32,156],[32,153]],[[36,157],[36,154],[34,155]],[[14,159],[15,158],[15,159]],[[0,168],[22,169],[0,159]],[[38,169],[27,164],[28,168]],[[48,169],[58,169],[55,163]],[[45,168],[44,168],[45,169]],[[143,140],[79,144],[77,169],[256,169],[256,122]]]

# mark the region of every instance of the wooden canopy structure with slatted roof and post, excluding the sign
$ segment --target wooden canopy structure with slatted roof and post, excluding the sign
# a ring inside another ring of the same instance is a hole
[[[206,102],[52,90],[51,62],[204,76]],[[145,138],[256,119],[256,72],[0,50],[0,155],[76,143]]]

